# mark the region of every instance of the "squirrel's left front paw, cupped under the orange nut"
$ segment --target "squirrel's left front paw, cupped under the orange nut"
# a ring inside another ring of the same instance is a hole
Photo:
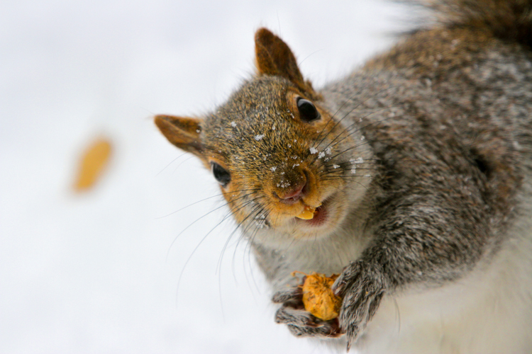
[[[275,322],[286,324],[294,336],[336,338],[343,335],[338,319],[322,321],[305,310],[301,287],[276,292],[272,301],[282,304],[282,307],[279,307],[275,313]]]

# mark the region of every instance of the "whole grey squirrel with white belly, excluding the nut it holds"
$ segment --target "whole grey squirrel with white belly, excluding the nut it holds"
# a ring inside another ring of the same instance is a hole
[[[257,72],[201,118],[155,116],[220,184],[275,321],[360,353],[532,353],[532,1],[421,1],[435,21],[314,89]],[[338,318],[291,273],[338,273]]]

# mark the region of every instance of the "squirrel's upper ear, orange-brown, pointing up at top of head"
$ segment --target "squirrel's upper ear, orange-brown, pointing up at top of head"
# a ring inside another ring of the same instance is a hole
[[[259,74],[283,76],[303,91],[312,90],[299,72],[292,50],[266,28],[260,28],[255,33],[255,61]]]

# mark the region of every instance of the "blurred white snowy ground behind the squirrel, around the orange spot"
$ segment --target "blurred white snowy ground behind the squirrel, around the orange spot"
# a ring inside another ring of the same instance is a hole
[[[221,200],[181,210],[216,182],[152,117],[221,103],[253,73],[262,25],[320,86],[388,47],[402,17],[375,0],[1,1],[0,353],[327,351],[273,322],[238,237],[218,264]],[[99,134],[111,166],[76,195]]]

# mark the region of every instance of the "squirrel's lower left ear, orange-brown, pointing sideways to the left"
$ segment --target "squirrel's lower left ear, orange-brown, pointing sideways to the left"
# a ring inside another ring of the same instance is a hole
[[[201,120],[196,118],[174,117],[173,115],[155,115],[155,125],[169,142],[179,149],[192,152],[203,158],[203,145],[199,139]]]

